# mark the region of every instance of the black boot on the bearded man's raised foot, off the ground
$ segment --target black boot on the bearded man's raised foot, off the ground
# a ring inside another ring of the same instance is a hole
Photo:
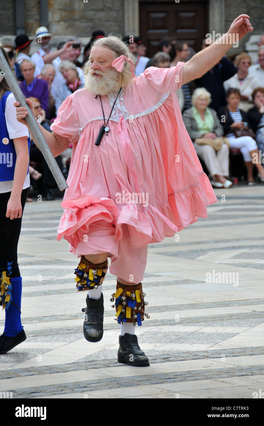
[[[88,294],[86,297],[87,308],[82,308],[85,312],[85,320],[83,323],[83,334],[88,342],[99,342],[103,336],[104,321],[104,297],[101,294],[100,299],[90,299]]]

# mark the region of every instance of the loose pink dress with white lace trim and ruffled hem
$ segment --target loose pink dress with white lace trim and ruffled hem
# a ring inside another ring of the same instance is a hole
[[[57,239],[68,240],[77,256],[91,253],[83,252],[83,235],[94,222],[111,222],[117,243],[127,224],[126,238],[143,247],[207,218],[206,206],[217,202],[182,121],[176,90],[183,66],[150,67],[122,89],[99,146],[99,96],[79,89],[60,106],[51,130],[73,143],[73,154]],[[106,118],[115,96],[101,96]]]

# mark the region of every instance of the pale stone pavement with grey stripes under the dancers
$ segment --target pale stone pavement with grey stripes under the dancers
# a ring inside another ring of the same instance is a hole
[[[150,366],[117,362],[119,325],[103,283],[104,336],[82,333],[76,256],[56,240],[59,199],[27,203],[19,242],[27,339],[0,355],[13,398],[253,398],[264,391],[264,185],[216,190],[208,219],[149,245],[150,319],[136,328]],[[179,240],[179,241],[178,241]],[[0,316],[0,332],[4,313]]]

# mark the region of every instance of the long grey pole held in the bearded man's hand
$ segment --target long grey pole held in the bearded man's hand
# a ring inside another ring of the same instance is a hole
[[[43,137],[43,134],[41,133],[38,127],[36,118],[32,114],[28,104],[26,103],[26,98],[21,92],[21,89],[17,84],[17,81],[10,69],[9,64],[6,62],[3,52],[1,52],[1,49],[0,49],[0,69],[1,71],[5,73],[5,79],[11,91],[13,92],[16,100],[20,102],[21,107],[26,107],[28,110],[28,115],[26,115],[26,122],[29,125],[30,131],[34,139],[37,141],[37,144],[40,147],[40,151],[43,153],[43,156],[48,164],[49,169],[51,170],[52,175],[54,176],[55,181],[57,182],[58,187],[60,188],[61,191],[64,190],[65,188],[68,188],[65,178],[62,175],[62,172],[54,156],[51,153],[50,147],[48,146],[47,142],[45,141]]]

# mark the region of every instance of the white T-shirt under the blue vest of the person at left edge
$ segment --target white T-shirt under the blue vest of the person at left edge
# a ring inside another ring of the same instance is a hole
[[[16,100],[13,93],[10,93],[6,99],[5,109],[6,127],[9,134],[9,139],[22,138],[22,136],[26,136],[28,138],[28,128],[25,126],[25,124],[21,124],[19,121],[17,121],[16,108],[13,105],[15,101]],[[0,141],[0,144],[2,144],[2,141]],[[13,182],[14,181],[0,182],[0,193],[10,192],[13,187]],[[29,186],[30,179],[28,173],[23,184],[23,189],[26,189]]]

